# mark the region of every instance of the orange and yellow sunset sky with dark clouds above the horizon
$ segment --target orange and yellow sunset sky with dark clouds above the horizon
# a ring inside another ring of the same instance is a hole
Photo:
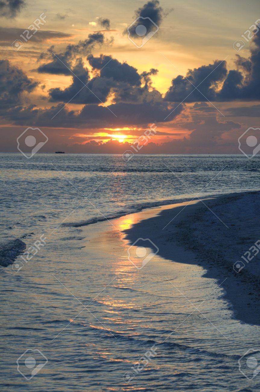
[[[258,0],[1,0],[0,151],[34,132],[40,152],[239,153],[259,18]]]

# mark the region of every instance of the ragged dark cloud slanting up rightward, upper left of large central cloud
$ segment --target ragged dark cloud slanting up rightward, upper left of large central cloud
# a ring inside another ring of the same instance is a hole
[[[42,53],[40,60],[49,58],[52,61],[45,63],[38,67],[39,73],[50,73],[57,75],[70,75],[72,60],[78,55],[86,55],[96,47],[104,43],[104,35],[101,33],[89,34],[88,38],[84,41],[79,41],[78,44],[67,45],[65,51],[54,54],[54,46],[48,49],[47,53]]]

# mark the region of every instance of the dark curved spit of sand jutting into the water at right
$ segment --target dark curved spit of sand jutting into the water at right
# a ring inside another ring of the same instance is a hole
[[[242,261],[241,256],[260,239],[260,191],[203,201],[211,211],[197,200],[162,206],[159,214],[125,230],[126,239],[134,243],[137,238],[149,238],[162,258],[203,267],[203,276],[216,279],[225,290],[224,298],[234,318],[260,325],[260,252],[248,263],[244,261],[240,272],[233,269],[233,264]]]

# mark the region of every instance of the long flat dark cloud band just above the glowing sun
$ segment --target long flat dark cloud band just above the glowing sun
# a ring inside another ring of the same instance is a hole
[[[148,123],[152,123],[154,120],[162,122],[169,114],[169,107],[164,102],[154,104],[116,103],[108,107],[91,104],[85,105],[79,112],[74,110],[69,111],[66,107],[63,108],[63,106],[63,104],[59,104],[49,109],[38,109],[33,105],[29,107],[18,106],[10,111],[6,111],[4,117],[17,125],[30,123],[31,126],[35,125],[39,127],[100,129],[106,128],[108,125],[111,128],[127,126],[146,127]],[[173,120],[181,113],[182,109],[182,105],[179,105],[167,120]]]

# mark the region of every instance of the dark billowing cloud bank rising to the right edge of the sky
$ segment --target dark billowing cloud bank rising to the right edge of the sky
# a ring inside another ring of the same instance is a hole
[[[172,80],[165,100],[170,102],[260,100],[260,34],[256,34],[250,47],[251,56],[236,56],[237,69],[227,71],[226,61],[189,70],[184,76]],[[198,90],[194,90],[194,86]],[[194,90],[194,91],[193,91]],[[204,96],[203,96],[203,95]]]

